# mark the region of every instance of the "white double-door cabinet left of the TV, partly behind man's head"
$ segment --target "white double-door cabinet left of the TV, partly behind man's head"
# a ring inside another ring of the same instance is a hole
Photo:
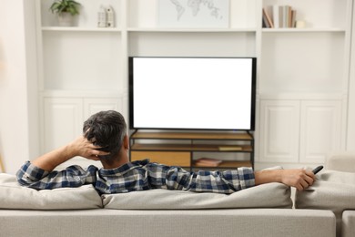
[[[49,151],[76,139],[83,131],[83,122],[101,110],[124,110],[122,98],[60,97],[43,98],[42,148]]]

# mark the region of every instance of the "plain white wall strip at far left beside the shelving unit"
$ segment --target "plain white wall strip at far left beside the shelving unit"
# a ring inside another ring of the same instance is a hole
[[[8,173],[38,150],[33,5],[0,0],[0,154]]]

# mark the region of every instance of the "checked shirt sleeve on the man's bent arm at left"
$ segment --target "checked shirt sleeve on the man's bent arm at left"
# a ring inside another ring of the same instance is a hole
[[[66,170],[48,172],[26,161],[17,171],[16,178],[20,185],[35,190],[74,188],[95,183],[96,170],[95,166],[89,166],[87,170],[80,166],[70,166]]]

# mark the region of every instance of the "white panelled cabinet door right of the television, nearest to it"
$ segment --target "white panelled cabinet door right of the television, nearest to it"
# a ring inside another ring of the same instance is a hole
[[[299,101],[261,100],[261,162],[299,161]]]

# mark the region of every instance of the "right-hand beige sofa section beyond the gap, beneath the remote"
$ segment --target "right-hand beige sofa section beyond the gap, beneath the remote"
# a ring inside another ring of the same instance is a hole
[[[296,193],[295,207],[330,210],[336,216],[337,236],[355,236],[355,152],[330,154],[313,186]]]

